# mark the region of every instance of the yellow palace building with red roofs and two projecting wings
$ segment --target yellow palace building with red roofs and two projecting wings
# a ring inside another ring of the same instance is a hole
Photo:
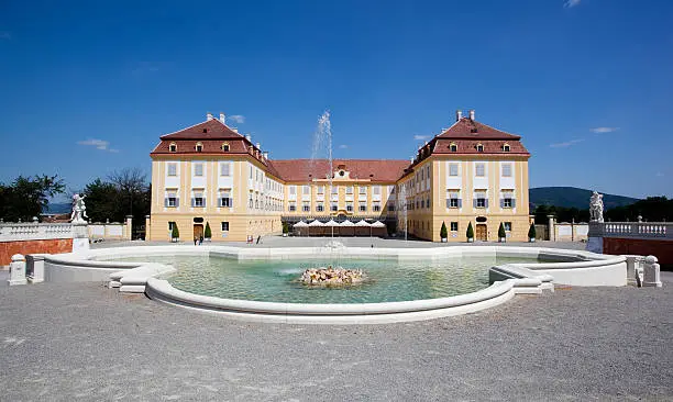
[[[210,113],[161,136],[150,155],[146,239],[167,241],[177,225],[189,241],[208,223],[212,241],[244,242],[315,220],[379,221],[388,233],[406,228],[433,242],[442,223],[449,242],[465,242],[470,223],[476,241],[497,241],[503,223],[509,239],[527,239],[530,153],[520,136],[477,122],[474,111],[456,112],[412,160],[273,160],[224,114]]]

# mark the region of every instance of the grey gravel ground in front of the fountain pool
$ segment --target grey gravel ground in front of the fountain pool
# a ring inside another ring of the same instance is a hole
[[[99,283],[0,288],[0,400],[671,400],[664,287],[367,326],[231,321]]]

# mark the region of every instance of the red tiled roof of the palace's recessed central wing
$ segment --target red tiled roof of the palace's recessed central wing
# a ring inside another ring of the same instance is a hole
[[[271,165],[278,171],[280,178],[286,181],[308,181],[315,178],[324,179],[330,171],[327,159],[272,160]],[[344,165],[344,170],[350,172],[352,179],[390,182],[401,177],[405,168],[409,166],[409,161],[394,159],[334,159],[331,171],[336,170],[340,165]],[[309,175],[311,176],[309,177]]]

